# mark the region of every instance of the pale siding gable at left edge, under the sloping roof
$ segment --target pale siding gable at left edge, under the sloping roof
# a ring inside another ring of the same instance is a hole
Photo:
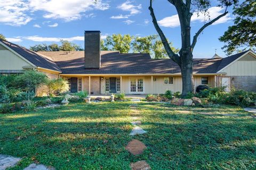
[[[30,62],[23,59],[23,57],[15,54],[5,45],[0,42],[0,70],[6,72],[8,70],[23,70],[23,67],[34,66]]]

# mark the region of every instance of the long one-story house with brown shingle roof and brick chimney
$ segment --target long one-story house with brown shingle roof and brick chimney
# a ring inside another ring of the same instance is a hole
[[[226,58],[194,59],[194,87],[227,86],[256,91],[256,54],[251,50]],[[154,60],[149,54],[100,51],[100,31],[85,31],[84,52],[33,52],[0,40],[0,73],[44,72],[50,79],[63,77],[70,92],[89,94],[163,94],[182,91],[180,67],[170,59]],[[43,95],[45,87],[37,90]]]

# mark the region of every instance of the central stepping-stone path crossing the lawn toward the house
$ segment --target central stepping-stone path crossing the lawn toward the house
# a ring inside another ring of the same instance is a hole
[[[134,100],[134,101],[138,102],[138,100]],[[138,104],[131,104],[130,107],[132,109],[132,113],[131,113],[132,120],[134,120],[133,122],[131,122],[131,124],[134,125],[134,128],[132,129],[130,135],[134,136],[134,135],[147,133],[145,130],[143,130],[139,126],[142,124],[142,122],[141,122],[140,112],[138,110]],[[131,140],[125,147],[125,149],[131,152],[131,154],[134,156],[138,156],[142,154],[143,150],[145,150],[146,148],[147,146],[137,139]],[[132,170],[150,170],[151,168],[145,160],[140,160],[138,162],[131,163],[131,169]]]

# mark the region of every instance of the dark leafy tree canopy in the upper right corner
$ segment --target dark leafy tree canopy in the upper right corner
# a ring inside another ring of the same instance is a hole
[[[225,43],[222,49],[230,55],[237,50],[256,47],[256,1],[247,0],[234,6],[234,25],[219,38]]]

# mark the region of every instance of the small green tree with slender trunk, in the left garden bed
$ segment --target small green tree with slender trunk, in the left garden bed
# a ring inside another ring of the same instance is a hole
[[[47,76],[38,71],[25,71],[25,73],[19,75],[16,78],[17,86],[28,93],[28,99],[30,100],[30,93],[34,92],[36,87],[45,84],[47,82]]]

